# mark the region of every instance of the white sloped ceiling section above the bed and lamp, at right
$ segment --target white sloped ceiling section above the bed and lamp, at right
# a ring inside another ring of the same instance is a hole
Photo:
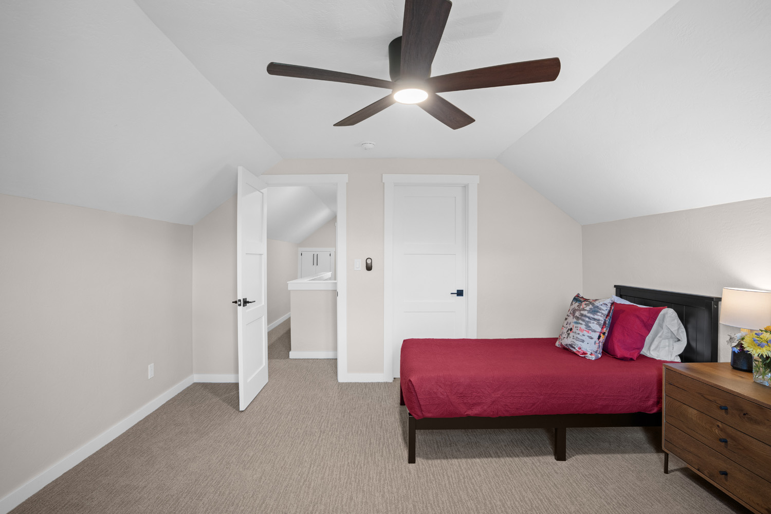
[[[682,0],[499,160],[582,224],[771,197],[771,2]]]

